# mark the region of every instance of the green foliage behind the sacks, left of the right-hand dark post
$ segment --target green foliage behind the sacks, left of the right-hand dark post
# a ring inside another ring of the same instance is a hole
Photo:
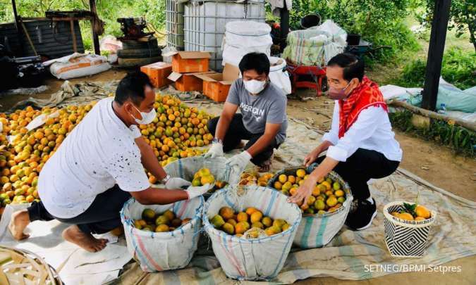
[[[300,19],[318,13],[323,20],[334,20],[348,33],[361,34],[374,46],[390,46],[374,53],[378,61],[389,61],[403,50],[416,51],[420,46],[404,24],[412,0],[293,0],[290,25],[300,29]],[[371,63],[367,61],[367,63]]]

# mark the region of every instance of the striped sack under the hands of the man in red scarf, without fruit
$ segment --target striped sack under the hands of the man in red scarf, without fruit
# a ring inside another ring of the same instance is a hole
[[[317,167],[317,164],[310,165],[310,167],[307,167],[306,172],[312,172],[315,167]],[[296,170],[300,168],[303,167],[288,167],[277,172],[273,178],[269,179],[268,186],[271,187],[279,175],[295,175]],[[295,245],[300,248],[320,248],[325,246],[334,238],[343,227],[344,222],[346,222],[353,200],[353,196],[350,193],[350,186],[334,171],[331,171],[327,176],[341,184],[341,189],[346,192],[346,201],[344,201],[340,208],[332,213],[315,215],[303,214],[303,220],[299,224],[294,238]]]

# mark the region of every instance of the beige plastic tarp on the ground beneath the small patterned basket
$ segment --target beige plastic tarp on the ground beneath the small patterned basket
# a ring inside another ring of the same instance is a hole
[[[210,109],[215,113],[219,113],[221,110],[214,106],[211,106]],[[310,139],[311,136],[314,139]],[[289,167],[289,165],[302,164],[303,157],[319,144],[320,138],[321,135],[312,129],[307,129],[305,125],[290,120],[288,137],[276,150],[272,170],[276,171]],[[474,201],[439,189],[400,168],[389,177],[375,179],[369,187],[372,197],[377,201],[378,213],[371,227],[362,231],[352,231],[344,226],[334,239],[322,248],[306,250],[292,248],[278,276],[261,284],[292,284],[307,277],[334,277],[346,280],[374,279],[388,274],[399,274],[401,271],[370,271],[365,265],[382,264],[398,268],[408,265],[438,266],[451,260],[476,254],[476,239],[474,238],[476,203]],[[417,193],[420,193],[419,203],[438,212],[438,218],[429,233],[427,254],[419,259],[393,258],[385,245],[382,210],[386,203],[392,201],[415,201]],[[301,223],[303,222],[305,221],[302,220]],[[472,260],[465,258],[461,262],[465,262],[464,264],[468,264],[468,268],[471,268]],[[465,268],[463,266],[463,272]],[[468,274],[463,274],[461,277],[468,277]],[[407,275],[408,277],[405,277]],[[425,274],[413,272],[405,273],[405,276],[397,278],[400,280],[412,278],[422,281],[430,275],[435,280],[442,276],[429,272]],[[460,278],[459,275],[455,274],[455,278]],[[379,282],[382,283],[381,280],[374,279],[367,283],[379,284]],[[392,278],[392,280],[396,280],[396,278]],[[126,285],[165,282],[174,282],[180,285],[237,284],[236,280],[226,278],[223,267],[214,256],[208,239],[200,239],[197,254],[190,262],[190,267],[174,272],[159,272],[144,276],[140,267],[134,265],[126,270],[119,282]],[[348,281],[343,282],[349,283]]]

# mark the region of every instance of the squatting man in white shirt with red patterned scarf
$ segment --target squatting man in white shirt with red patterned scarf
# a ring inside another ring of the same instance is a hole
[[[314,162],[319,166],[289,198],[307,203],[316,182],[334,170],[348,182],[357,200],[357,208],[346,220],[347,226],[355,230],[370,227],[377,215],[367,182],[391,175],[402,158],[382,93],[365,77],[364,69],[363,61],[350,53],[338,54],[329,61],[329,97],[336,100],[331,130],[304,159],[307,166]],[[327,155],[319,157],[324,151]]]

